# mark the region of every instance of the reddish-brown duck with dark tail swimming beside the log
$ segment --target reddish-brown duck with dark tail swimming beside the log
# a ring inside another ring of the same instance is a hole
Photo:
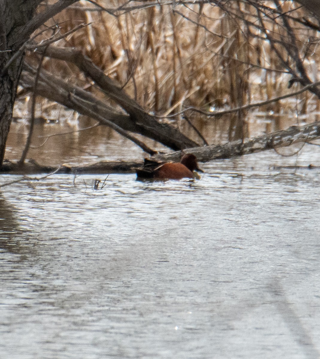
[[[180,162],[157,162],[145,158],[144,165],[136,168],[137,180],[181,180],[199,178],[195,173],[203,172],[197,158],[192,153],[185,154]]]

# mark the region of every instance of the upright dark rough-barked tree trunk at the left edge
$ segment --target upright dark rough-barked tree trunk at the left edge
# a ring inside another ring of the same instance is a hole
[[[0,0],[0,167],[24,59],[24,43],[38,27],[76,1],[59,0],[35,15],[42,0]]]

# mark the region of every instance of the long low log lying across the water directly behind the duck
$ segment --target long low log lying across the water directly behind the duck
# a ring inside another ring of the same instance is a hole
[[[255,137],[244,143],[241,140],[229,142],[223,145],[210,145],[204,147],[190,148],[184,153],[193,153],[200,162],[208,162],[214,159],[226,159],[250,153],[256,153],[280,147],[289,146],[295,143],[310,142],[320,138],[320,122],[314,122],[305,126],[291,126],[287,130],[273,132],[263,136]],[[181,151],[166,155],[156,155],[152,157],[156,160],[179,161]],[[28,161],[24,167],[17,163],[4,162],[1,171],[3,173],[30,174],[30,173],[132,173],[136,167],[142,165],[141,162],[98,162],[90,165],[70,167],[61,165],[57,167],[41,166],[35,161]],[[310,165],[310,168],[313,166]]]

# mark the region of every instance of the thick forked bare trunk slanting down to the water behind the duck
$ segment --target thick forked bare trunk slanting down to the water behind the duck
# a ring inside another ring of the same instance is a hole
[[[159,122],[156,117],[145,112],[121,87],[117,86],[87,56],[83,55],[82,50],[49,46],[45,50],[39,50],[41,53],[43,51],[45,51],[45,56],[72,62],[78,66],[86,76],[96,83],[107,97],[115,101],[126,113],[117,112],[110,106],[98,101],[89,92],[70,85],[43,69],[40,71],[40,80],[36,89],[37,94],[68,106],[84,115],[93,117],[104,125],[110,126],[110,121],[114,122],[126,131],[135,132],[154,139],[173,150],[197,146],[194,141],[182,134],[176,127],[165,122]],[[33,75],[36,72],[30,66],[25,65],[20,83],[25,88],[33,89],[34,76],[28,75],[27,71],[33,73]],[[94,116],[97,111],[97,116]],[[103,121],[103,118],[105,121]],[[109,123],[106,123],[108,121]]]

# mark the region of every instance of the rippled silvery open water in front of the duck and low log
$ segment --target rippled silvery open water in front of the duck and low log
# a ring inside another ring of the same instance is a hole
[[[316,151],[1,188],[1,358],[319,358]]]

